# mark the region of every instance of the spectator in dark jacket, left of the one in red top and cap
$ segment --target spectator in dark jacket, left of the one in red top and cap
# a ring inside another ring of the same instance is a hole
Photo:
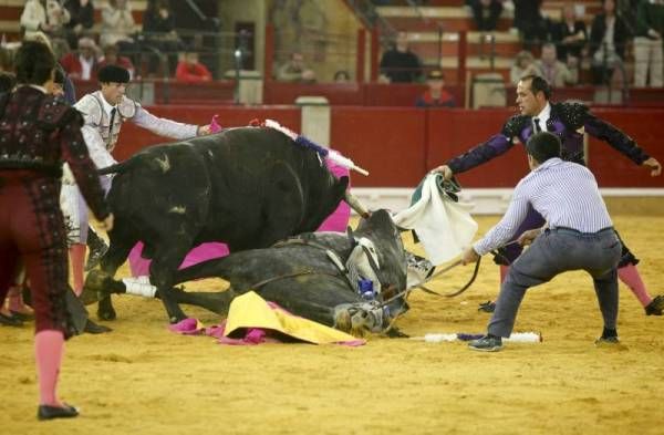
[[[408,48],[408,33],[398,32],[393,49],[381,59],[381,81],[387,83],[413,83],[422,76],[422,62]]]

